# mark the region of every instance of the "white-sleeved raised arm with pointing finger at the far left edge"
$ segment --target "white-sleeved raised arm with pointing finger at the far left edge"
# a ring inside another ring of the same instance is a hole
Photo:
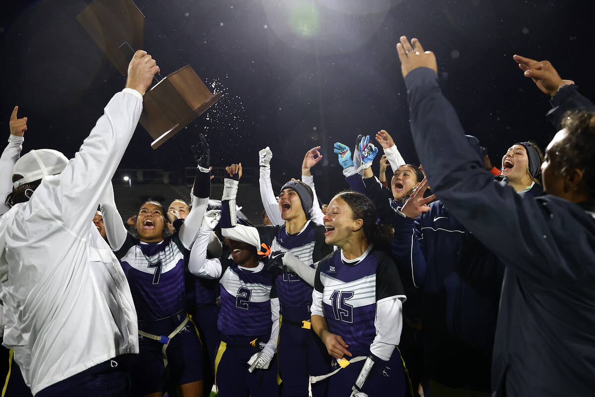
[[[10,135],[8,136],[8,145],[2,151],[0,156],[0,215],[8,211],[4,203],[8,193],[12,191],[12,168],[17,162],[23,149],[25,131],[27,130],[27,117],[17,117],[18,106],[15,106],[10,115]]]

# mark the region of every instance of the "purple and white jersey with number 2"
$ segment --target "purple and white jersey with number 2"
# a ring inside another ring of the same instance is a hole
[[[269,335],[271,298],[276,298],[274,276],[262,271],[262,264],[254,268],[239,268],[231,260],[221,260],[223,267],[221,285],[221,310],[217,327],[227,336]]]

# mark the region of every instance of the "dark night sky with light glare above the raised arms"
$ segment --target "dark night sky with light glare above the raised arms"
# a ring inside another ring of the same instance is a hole
[[[544,148],[555,133],[544,117],[549,98],[522,76],[513,54],[551,61],[593,98],[592,3],[136,0],[145,49],[161,74],[190,64],[223,98],[156,151],[139,125],[120,167],[192,166],[187,149],[204,132],[216,166],[241,161],[256,172],[258,150],[270,146],[273,178],[282,183],[298,177],[303,154],[321,145],[325,158],[312,171],[325,202],[346,186],[336,141],[353,146],[358,133],[386,129],[415,163],[394,49],[403,34],[436,53],[443,92],[499,166],[512,143],[534,139]],[[76,21],[87,4],[1,6],[0,131],[8,135],[18,105],[19,117],[29,118],[23,152],[47,147],[72,157],[124,86]]]

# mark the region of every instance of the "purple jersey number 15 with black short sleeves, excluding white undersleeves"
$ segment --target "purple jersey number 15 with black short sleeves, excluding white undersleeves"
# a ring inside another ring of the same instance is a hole
[[[342,260],[340,250],[333,252],[318,264],[315,288],[322,293],[328,330],[343,337],[353,357],[369,354],[376,302],[405,296],[396,265],[376,249],[351,263]]]

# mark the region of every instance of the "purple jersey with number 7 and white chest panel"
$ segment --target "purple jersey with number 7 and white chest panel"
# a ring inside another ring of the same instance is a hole
[[[185,310],[184,254],[177,233],[159,243],[128,235],[115,252],[120,260],[139,321],[159,320]]]

